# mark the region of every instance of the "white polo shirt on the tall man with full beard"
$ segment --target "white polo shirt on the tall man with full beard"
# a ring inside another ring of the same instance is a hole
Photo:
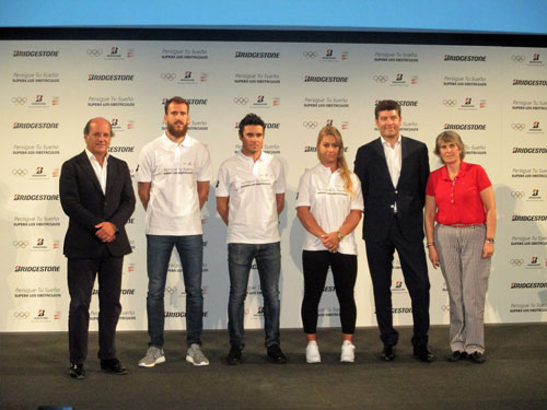
[[[205,144],[186,134],[175,143],[163,133],[144,145],[137,181],[152,183],[147,208],[147,234],[202,234],[197,181],[212,179],[211,160]]]

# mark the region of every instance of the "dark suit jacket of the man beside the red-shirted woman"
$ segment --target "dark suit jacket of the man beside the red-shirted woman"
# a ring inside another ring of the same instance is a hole
[[[394,187],[380,139],[362,145],[356,155],[354,173],[361,179],[364,200],[363,238],[383,241],[389,232],[393,206],[407,239],[423,239],[423,204],[429,177],[428,148],[401,137],[401,167]]]

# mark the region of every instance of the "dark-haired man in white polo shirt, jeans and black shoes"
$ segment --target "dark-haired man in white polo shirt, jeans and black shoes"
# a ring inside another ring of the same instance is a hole
[[[284,207],[281,162],[263,151],[265,124],[255,114],[240,122],[242,150],[219,168],[217,210],[228,225],[230,298],[228,329],[231,349],[226,363],[242,363],[245,347],[243,317],[248,276],[256,260],[264,296],[264,327],[268,359],[286,363],[279,341],[279,276],[281,271],[278,215]]]

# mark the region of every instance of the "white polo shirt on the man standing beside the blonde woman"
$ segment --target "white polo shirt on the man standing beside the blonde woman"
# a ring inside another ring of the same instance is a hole
[[[219,168],[217,197],[230,197],[229,244],[279,242],[276,194],[284,194],[281,162],[266,152],[254,162],[241,152]]]

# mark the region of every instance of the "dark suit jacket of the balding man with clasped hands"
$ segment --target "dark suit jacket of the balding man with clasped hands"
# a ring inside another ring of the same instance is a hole
[[[84,151],[62,164],[59,194],[70,218],[63,246],[68,258],[98,258],[105,246],[113,256],[131,253],[125,224],[135,210],[135,192],[125,161],[108,156],[105,195]],[[95,225],[105,221],[117,229],[116,239],[107,244],[95,236]]]

